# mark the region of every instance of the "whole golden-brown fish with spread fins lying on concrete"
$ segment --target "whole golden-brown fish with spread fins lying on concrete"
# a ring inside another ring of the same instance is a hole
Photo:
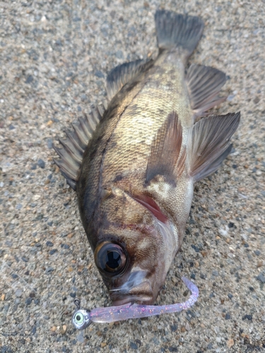
[[[240,124],[240,112],[207,113],[226,100],[225,73],[187,68],[204,21],[158,10],[155,28],[157,57],[113,68],[107,102],[79,118],[61,148],[54,145],[95,265],[119,307],[155,303],[182,245],[194,184],[230,154]]]

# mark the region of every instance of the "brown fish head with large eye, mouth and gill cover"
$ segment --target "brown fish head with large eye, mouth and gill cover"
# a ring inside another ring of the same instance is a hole
[[[153,304],[175,256],[175,234],[168,221],[122,191],[107,200],[107,222],[95,246],[95,264],[114,305]]]

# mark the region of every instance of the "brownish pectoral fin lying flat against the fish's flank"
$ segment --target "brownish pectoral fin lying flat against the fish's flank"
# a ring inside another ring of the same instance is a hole
[[[186,160],[186,148],[182,148],[182,126],[175,111],[168,114],[151,145],[151,154],[146,168],[146,184],[156,175],[163,175],[175,184],[182,174]]]

